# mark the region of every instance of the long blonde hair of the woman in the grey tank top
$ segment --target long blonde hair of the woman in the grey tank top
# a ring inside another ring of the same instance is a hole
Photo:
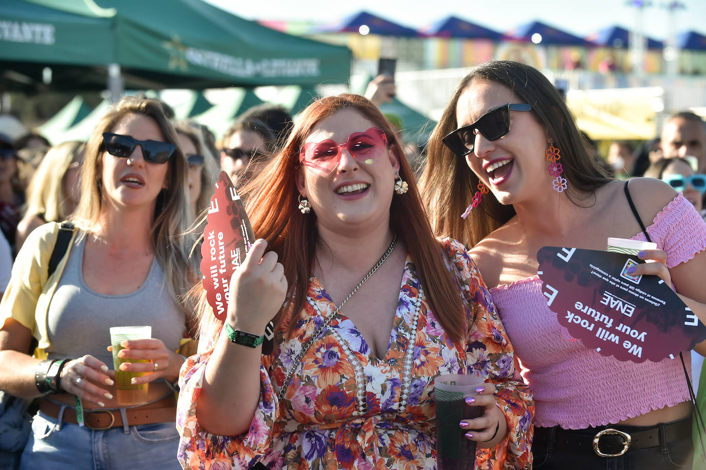
[[[162,266],[164,279],[174,298],[184,305],[182,295],[195,281],[196,266],[189,262],[187,254],[192,243],[191,237],[184,235],[191,220],[189,208],[189,185],[187,183],[186,157],[179,148],[179,139],[164,110],[157,100],[127,96],[116,102],[93,129],[86,146],[81,170],[81,197],[71,219],[78,228],[90,231],[95,228],[102,210],[101,169],[103,163],[103,132],[110,132],[127,114],[140,114],[154,119],[162,130],[164,141],[177,146],[171,158],[167,179],[168,187],[157,196],[155,218],[150,227],[152,249],[157,262]]]

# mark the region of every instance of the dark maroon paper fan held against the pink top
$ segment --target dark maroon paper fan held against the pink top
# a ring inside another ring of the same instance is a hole
[[[547,305],[569,334],[603,356],[642,363],[676,358],[706,339],[706,327],[658,276],[630,276],[642,261],[594,249],[542,247]]]

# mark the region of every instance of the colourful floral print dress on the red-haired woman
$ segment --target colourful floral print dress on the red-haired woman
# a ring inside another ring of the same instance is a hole
[[[477,452],[478,469],[530,469],[534,404],[522,382],[508,336],[488,290],[464,247],[443,240],[449,269],[465,299],[469,327],[464,345],[441,328],[407,255],[388,353],[376,358],[342,309],[285,375],[304,343],[335,310],[311,278],[304,312],[289,341],[263,356],[261,399],[250,430],[238,436],[207,433],[196,417],[205,364],[221,325],[201,338],[201,353],[181,368],[178,459],[185,469],[436,469],[433,378],[466,373],[496,384],[508,423],[505,440]]]

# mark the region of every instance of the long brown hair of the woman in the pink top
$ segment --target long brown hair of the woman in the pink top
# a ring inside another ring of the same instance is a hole
[[[534,118],[546,128],[554,146],[561,149],[563,177],[568,183],[565,194],[574,204],[586,199],[586,194],[590,199],[598,187],[613,179],[609,165],[586,150],[563,97],[542,72],[520,62],[490,61],[477,66],[460,81],[429,139],[426,168],[419,186],[436,235],[452,237],[473,247],[515,216],[513,206],[503,206],[489,193],[484,194],[465,221],[461,218],[473,199],[479,179],[465,159],[450,151],[441,139],[457,129],[456,104],[474,80],[503,85],[532,106]]]

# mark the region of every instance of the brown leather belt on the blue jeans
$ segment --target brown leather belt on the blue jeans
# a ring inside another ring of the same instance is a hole
[[[59,419],[61,406],[63,405],[42,399],[40,411],[54,419]],[[137,406],[136,408],[126,408],[125,414],[128,418],[129,426],[166,423],[168,421],[176,421],[177,405],[174,396],[170,395],[154,403]],[[61,416],[61,421],[64,423],[78,424],[78,421],[76,421],[76,409],[66,405],[64,415]],[[87,428],[105,430],[122,426],[123,418],[120,409],[92,408],[83,409],[83,422]]]

